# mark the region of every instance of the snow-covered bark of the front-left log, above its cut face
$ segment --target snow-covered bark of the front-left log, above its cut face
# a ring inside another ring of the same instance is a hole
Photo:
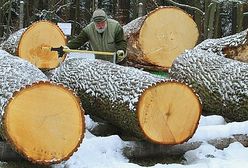
[[[2,118],[4,105],[15,91],[20,90],[23,86],[48,79],[34,65],[3,50],[0,50],[0,64],[0,112]]]

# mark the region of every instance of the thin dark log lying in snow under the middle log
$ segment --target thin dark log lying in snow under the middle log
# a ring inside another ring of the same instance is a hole
[[[123,155],[128,159],[134,158],[146,158],[146,157],[172,157],[183,156],[187,151],[199,148],[203,143],[213,145],[217,149],[223,150],[227,148],[231,143],[239,142],[245,147],[248,146],[247,135],[233,135],[232,137],[212,139],[207,142],[185,142],[178,145],[158,145],[148,142],[135,141],[130,142],[129,145],[123,148]]]

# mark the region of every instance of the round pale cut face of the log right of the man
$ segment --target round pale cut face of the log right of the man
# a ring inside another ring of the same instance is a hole
[[[196,45],[198,36],[197,25],[187,13],[179,8],[166,7],[146,18],[139,43],[145,60],[171,67],[177,56]]]

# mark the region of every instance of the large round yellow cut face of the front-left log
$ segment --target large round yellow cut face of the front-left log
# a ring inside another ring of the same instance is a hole
[[[50,83],[35,84],[15,94],[3,122],[15,148],[35,162],[66,159],[84,133],[84,116],[77,97]]]

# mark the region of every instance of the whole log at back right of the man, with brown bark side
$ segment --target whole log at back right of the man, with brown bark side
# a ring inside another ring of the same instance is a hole
[[[123,28],[128,40],[127,64],[151,70],[170,68],[178,55],[196,45],[199,36],[191,16],[176,7],[157,8]]]

